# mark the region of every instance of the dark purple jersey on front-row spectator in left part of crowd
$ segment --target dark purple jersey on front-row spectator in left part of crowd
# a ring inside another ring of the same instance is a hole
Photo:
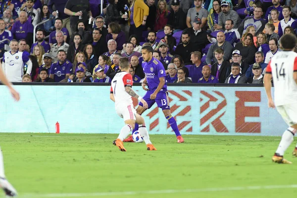
[[[60,82],[66,78],[66,74],[71,74],[72,63],[66,60],[63,64],[59,61],[54,62],[50,68],[50,74],[54,74],[54,82]]]

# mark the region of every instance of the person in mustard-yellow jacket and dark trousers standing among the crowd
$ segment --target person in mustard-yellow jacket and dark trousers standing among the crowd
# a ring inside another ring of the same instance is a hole
[[[138,41],[147,23],[148,11],[148,5],[143,0],[132,0],[128,16],[129,36],[136,34]]]

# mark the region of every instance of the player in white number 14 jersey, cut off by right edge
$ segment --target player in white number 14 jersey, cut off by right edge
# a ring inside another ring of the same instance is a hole
[[[284,159],[283,156],[297,132],[297,53],[294,52],[297,39],[293,34],[285,34],[280,41],[284,50],[273,56],[267,65],[264,86],[268,107],[276,107],[289,125],[272,156],[272,161],[291,164],[292,162]],[[274,84],[274,102],[271,96],[271,79]],[[293,155],[297,156],[297,147]]]

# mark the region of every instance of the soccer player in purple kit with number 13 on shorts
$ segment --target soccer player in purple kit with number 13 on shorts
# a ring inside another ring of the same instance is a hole
[[[167,85],[165,82],[166,72],[164,66],[159,60],[152,57],[153,49],[151,46],[144,46],[141,52],[144,59],[142,67],[146,75],[145,80],[142,83],[142,87],[147,91],[143,99],[148,103],[148,108],[150,108],[155,102],[159,108],[162,108],[165,118],[168,120],[169,125],[176,135],[177,142],[183,143],[184,139],[181,136],[177,127],[177,123],[170,112]],[[146,88],[147,85],[148,88]],[[145,110],[146,109],[143,107],[143,103],[139,102],[136,112],[141,115],[143,112],[145,112]],[[137,130],[138,125],[136,124],[132,134]],[[124,142],[133,142],[133,139],[132,137],[128,137],[124,140]]]

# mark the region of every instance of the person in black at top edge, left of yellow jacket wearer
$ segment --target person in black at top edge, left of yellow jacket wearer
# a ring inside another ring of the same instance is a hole
[[[125,14],[120,14],[118,8],[118,0],[108,0],[109,4],[106,8],[106,25],[111,22],[121,23],[122,18],[127,18]]]

